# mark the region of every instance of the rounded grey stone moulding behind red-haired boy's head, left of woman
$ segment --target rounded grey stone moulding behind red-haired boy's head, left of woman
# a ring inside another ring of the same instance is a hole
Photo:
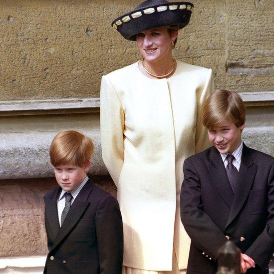
[[[102,161],[100,132],[85,131],[95,145],[91,174],[106,174]],[[44,178],[53,176],[48,150],[57,132],[0,134],[0,179]]]

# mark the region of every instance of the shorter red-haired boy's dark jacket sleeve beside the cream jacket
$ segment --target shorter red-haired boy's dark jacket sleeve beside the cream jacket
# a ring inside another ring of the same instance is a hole
[[[121,274],[123,263],[123,225],[117,200],[102,199],[95,217],[100,274]]]

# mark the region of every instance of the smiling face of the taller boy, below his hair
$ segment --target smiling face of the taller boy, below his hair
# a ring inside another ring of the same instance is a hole
[[[221,153],[233,153],[241,144],[245,124],[237,127],[232,121],[224,120],[208,131],[209,141]]]

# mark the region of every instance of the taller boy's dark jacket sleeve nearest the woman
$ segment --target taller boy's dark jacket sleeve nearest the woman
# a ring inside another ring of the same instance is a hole
[[[184,181],[181,196],[181,220],[194,245],[214,261],[219,248],[227,239],[210,217],[201,209],[201,184],[199,176],[189,159],[184,162]]]

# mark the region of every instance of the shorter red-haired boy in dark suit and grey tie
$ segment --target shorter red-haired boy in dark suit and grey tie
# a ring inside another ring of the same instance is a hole
[[[77,131],[58,133],[50,162],[59,185],[45,197],[47,274],[121,274],[122,218],[117,200],[86,173],[94,146]]]

